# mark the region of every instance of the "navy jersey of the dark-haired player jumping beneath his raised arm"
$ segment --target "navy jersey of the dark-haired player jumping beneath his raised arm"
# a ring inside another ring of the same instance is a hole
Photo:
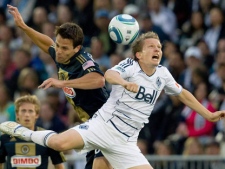
[[[93,61],[91,54],[85,52],[84,48],[76,53],[68,64],[56,61],[54,46],[49,48],[49,53],[56,63],[59,80],[77,79],[91,72],[97,72],[103,76],[99,65]],[[92,117],[108,98],[105,87],[90,90],[64,87],[63,91],[82,121],[86,121]]]

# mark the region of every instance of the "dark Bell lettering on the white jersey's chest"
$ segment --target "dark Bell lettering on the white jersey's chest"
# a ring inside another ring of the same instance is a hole
[[[140,86],[137,95],[135,96],[135,99],[137,100],[144,100],[148,104],[153,104],[156,100],[157,91],[153,90],[153,93],[145,93],[145,88],[143,86]]]

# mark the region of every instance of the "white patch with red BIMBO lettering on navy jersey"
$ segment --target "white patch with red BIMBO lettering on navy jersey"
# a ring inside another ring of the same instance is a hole
[[[11,158],[12,167],[29,167],[35,168],[41,165],[41,156],[19,156],[15,155]]]

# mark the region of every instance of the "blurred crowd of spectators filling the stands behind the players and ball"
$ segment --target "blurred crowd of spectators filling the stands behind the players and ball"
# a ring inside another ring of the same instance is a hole
[[[42,102],[37,125],[61,132],[78,122],[62,90],[37,89],[45,79],[57,78],[55,64],[14,25],[7,4],[18,7],[29,26],[52,39],[56,25],[79,24],[84,47],[103,71],[132,57],[129,46],[117,45],[108,36],[110,19],[130,14],[141,33],[158,33],[161,64],[176,81],[209,110],[225,109],[224,0],[2,0],[0,122],[16,120],[13,101],[28,93]],[[107,89],[110,92],[110,85]],[[176,97],[162,93],[149,120],[138,141],[144,154],[225,154],[225,121],[211,123]]]

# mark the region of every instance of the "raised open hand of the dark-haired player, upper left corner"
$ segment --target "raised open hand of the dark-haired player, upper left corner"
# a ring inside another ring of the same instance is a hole
[[[23,21],[23,18],[21,16],[21,14],[19,13],[17,7],[14,7],[12,5],[7,5],[8,7],[8,11],[9,13],[13,16],[15,24],[20,27],[23,28],[23,26],[25,26],[25,23]]]

